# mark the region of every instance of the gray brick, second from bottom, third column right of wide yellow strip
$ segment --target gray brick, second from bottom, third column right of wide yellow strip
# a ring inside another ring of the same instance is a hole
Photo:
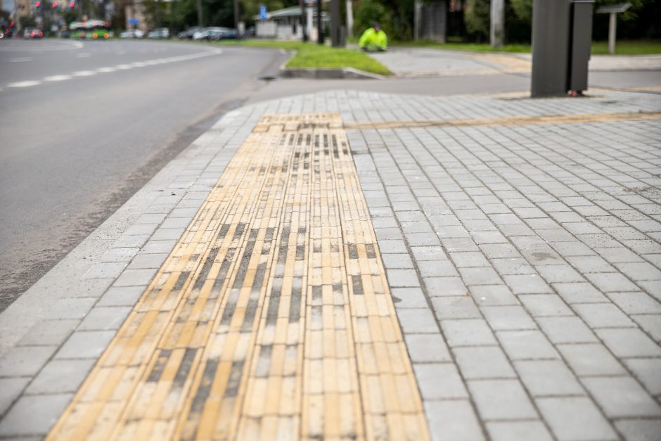
[[[514,366],[533,397],[584,395],[574,374],[560,360],[520,360]]]

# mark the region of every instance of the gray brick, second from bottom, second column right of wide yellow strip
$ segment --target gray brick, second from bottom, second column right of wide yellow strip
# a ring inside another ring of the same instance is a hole
[[[468,390],[484,421],[537,418],[518,380],[472,380]]]

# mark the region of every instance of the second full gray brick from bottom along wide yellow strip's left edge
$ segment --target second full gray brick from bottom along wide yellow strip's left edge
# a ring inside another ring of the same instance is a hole
[[[27,388],[28,395],[76,392],[96,360],[53,360]]]

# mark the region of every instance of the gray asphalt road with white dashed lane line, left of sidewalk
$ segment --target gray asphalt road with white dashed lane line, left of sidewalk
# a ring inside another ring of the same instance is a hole
[[[283,59],[176,41],[1,41],[0,311]]]

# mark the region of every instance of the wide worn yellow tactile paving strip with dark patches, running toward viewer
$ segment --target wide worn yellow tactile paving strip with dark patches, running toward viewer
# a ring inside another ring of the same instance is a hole
[[[49,440],[428,440],[338,114],[267,115]]]

